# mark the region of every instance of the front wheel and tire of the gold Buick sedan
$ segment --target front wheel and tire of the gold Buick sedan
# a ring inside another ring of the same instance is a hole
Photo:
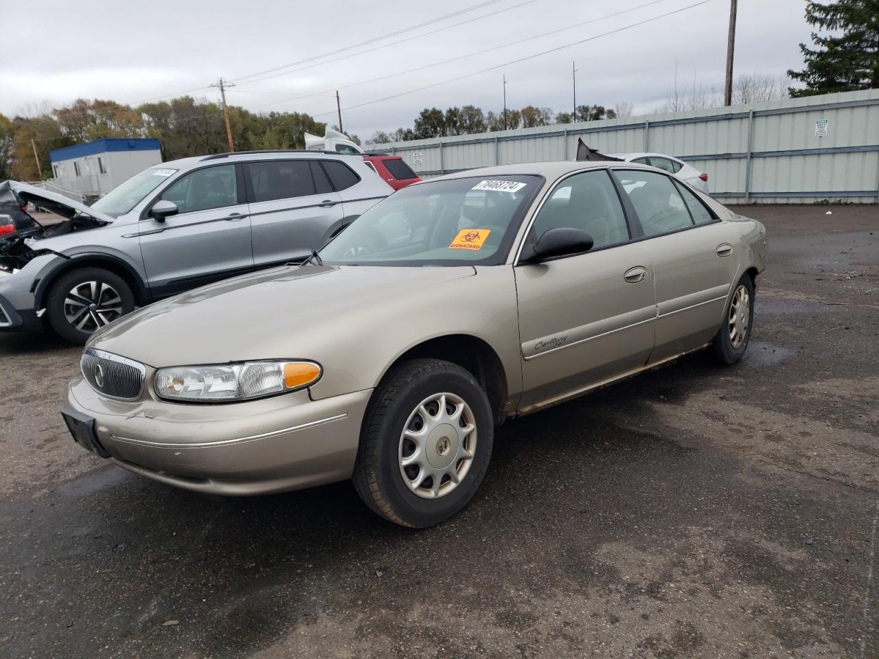
[[[444,414],[440,395],[447,402]],[[417,444],[413,437],[419,432],[425,434]],[[370,510],[396,524],[439,524],[473,498],[489,466],[493,438],[488,396],[469,371],[440,359],[413,359],[389,373],[369,403],[354,488]],[[403,467],[404,460],[414,462]],[[438,469],[446,473],[435,485],[432,473]],[[453,473],[459,482],[453,482]]]

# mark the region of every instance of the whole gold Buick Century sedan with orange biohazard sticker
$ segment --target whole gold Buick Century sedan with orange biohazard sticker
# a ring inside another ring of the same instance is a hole
[[[63,416],[156,481],[352,479],[377,514],[429,526],[474,496],[505,419],[701,348],[737,362],[765,263],[759,221],[651,167],[463,171],[395,192],[304,264],[98,330]]]

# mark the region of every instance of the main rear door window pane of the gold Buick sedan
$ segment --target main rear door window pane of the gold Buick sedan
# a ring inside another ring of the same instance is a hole
[[[642,170],[614,170],[614,174],[635,206],[645,237],[694,226],[671,178]]]

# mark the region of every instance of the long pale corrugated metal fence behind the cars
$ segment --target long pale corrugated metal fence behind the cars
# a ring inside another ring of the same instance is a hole
[[[816,122],[827,121],[818,136]],[[493,164],[570,160],[578,138],[603,153],[677,156],[728,203],[879,203],[879,90],[693,112],[375,144],[423,177]],[[413,152],[421,152],[421,163]]]

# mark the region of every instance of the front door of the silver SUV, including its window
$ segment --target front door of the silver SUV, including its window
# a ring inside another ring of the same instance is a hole
[[[153,200],[178,206],[164,221],[149,216],[138,226],[150,292],[185,291],[253,269],[251,221],[241,171],[218,164],[179,177]]]

